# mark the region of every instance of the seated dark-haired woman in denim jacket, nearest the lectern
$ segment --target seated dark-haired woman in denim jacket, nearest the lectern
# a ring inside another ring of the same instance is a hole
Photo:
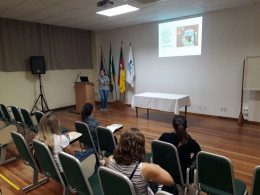
[[[81,111],[81,121],[88,125],[96,150],[98,151],[97,126],[100,126],[100,123],[93,117],[93,115],[93,105],[91,103],[86,103]],[[117,144],[116,137],[115,142]]]

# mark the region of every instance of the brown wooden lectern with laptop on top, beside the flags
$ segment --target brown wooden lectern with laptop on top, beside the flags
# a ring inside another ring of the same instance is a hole
[[[81,113],[85,103],[93,104],[95,108],[94,84],[87,82],[75,82],[76,112]]]

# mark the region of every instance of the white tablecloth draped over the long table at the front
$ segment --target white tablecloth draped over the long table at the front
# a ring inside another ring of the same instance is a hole
[[[132,107],[155,109],[179,114],[179,109],[191,106],[188,95],[167,93],[141,93],[133,96]]]

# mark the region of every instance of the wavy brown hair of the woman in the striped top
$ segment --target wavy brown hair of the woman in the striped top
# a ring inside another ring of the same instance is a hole
[[[145,138],[137,128],[130,128],[121,134],[120,142],[114,150],[114,159],[119,165],[145,162]]]

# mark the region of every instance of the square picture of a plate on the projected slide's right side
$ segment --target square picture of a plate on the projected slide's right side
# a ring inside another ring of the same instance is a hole
[[[176,47],[198,46],[199,25],[177,27]]]

